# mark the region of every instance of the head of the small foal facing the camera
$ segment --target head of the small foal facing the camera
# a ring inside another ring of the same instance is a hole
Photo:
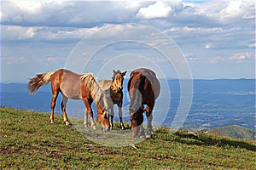
[[[123,90],[123,82],[125,77],[126,71],[114,71],[113,70],[113,82],[111,88],[113,91],[118,92]]]

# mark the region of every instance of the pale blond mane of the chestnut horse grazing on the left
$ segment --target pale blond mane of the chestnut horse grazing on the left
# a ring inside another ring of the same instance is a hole
[[[90,90],[90,95],[96,104],[102,98],[104,91],[99,85],[99,82],[96,80],[96,77],[92,73],[83,74],[80,79],[84,82],[85,87]]]

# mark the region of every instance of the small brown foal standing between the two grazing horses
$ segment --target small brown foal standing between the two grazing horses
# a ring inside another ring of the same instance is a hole
[[[108,106],[110,108],[110,128],[113,129],[113,105],[117,104],[119,107],[119,120],[120,120],[120,126],[122,129],[125,129],[124,123],[123,123],[123,113],[122,113],[122,105],[123,105],[123,82],[125,77],[126,71],[114,71],[113,70],[113,77],[111,80],[102,80],[100,82],[101,88],[106,90],[107,94],[110,94],[110,98],[108,98]]]

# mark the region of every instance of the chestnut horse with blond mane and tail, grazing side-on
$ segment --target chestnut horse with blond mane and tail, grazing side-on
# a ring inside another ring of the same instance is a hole
[[[58,71],[50,71],[44,74],[39,74],[28,82],[29,92],[31,94],[35,94],[38,91],[38,88],[49,82],[51,83],[52,91],[49,122],[54,122],[55,101],[58,94],[61,92],[61,110],[64,123],[66,125],[69,124],[66,112],[67,99],[82,99],[85,105],[84,127],[87,127],[87,116],[89,113],[91,127],[96,129],[96,124],[93,119],[93,112],[90,107],[92,101],[94,100],[98,108],[97,121],[101,123],[104,131],[108,130],[109,110],[107,97],[96,81],[96,77],[94,77],[92,73],[79,75],[72,71],[61,69]]]

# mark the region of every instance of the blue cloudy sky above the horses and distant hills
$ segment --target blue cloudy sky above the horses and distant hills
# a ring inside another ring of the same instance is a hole
[[[110,79],[255,78],[255,3],[1,1],[1,82],[67,68]]]

